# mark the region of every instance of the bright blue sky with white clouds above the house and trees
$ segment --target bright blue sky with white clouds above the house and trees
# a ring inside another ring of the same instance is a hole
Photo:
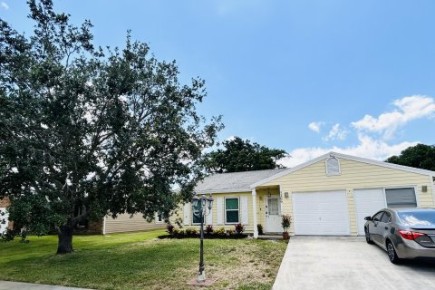
[[[206,80],[205,116],[220,140],[287,150],[293,166],[328,150],[383,160],[435,143],[435,2],[54,1],[95,43],[122,46],[128,29],[180,79]],[[24,1],[0,17],[31,32]]]

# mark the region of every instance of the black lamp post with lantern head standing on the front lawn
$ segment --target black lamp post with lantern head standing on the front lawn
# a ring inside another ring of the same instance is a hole
[[[199,272],[198,272],[198,282],[206,281],[206,273],[204,272],[204,217],[208,216],[213,206],[213,197],[206,197],[205,194],[198,197],[195,194],[193,197],[193,214],[201,220],[200,231],[200,249],[199,249]],[[207,210],[208,209],[208,210]]]

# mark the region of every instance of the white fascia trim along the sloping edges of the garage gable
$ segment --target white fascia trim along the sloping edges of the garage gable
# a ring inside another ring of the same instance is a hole
[[[343,159],[343,160],[353,160],[353,161],[356,161],[356,162],[362,162],[362,163],[382,166],[382,167],[389,168],[389,169],[397,169],[397,170],[402,170],[402,171],[407,171],[407,172],[412,172],[412,173],[417,173],[417,174],[422,174],[422,175],[428,175],[428,176],[431,176],[432,178],[435,177],[435,171],[430,171],[430,170],[426,170],[426,169],[416,169],[416,168],[409,167],[409,166],[397,165],[397,164],[383,162],[383,161],[378,161],[378,160],[369,160],[369,159],[362,158],[362,157],[356,157],[356,156],[352,156],[352,155],[346,155],[346,154],[342,154],[342,153],[337,153],[337,152],[331,151],[331,152],[326,153],[326,154],[324,154],[322,156],[314,158],[313,160],[309,160],[309,161],[306,161],[306,162],[304,162],[302,164],[299,164],[298,166],[295,166],[294,168],[285,169],[284,171],[278,172],[278,173],[276,173],[273,176],[269,176],[269,177],[267,177],[265,179],[261,179],[261,180],[255,182],[255,183],[252,183],[250,185],[250,188],[253,189],[253,188],[255,188],[257,186],[260,186],[260,185],[262,185],[262,184],[264,184],[266,182],[272,181],[274,179],[277,179],[277,178],[280,178],[282,176],[285,176],[285,175],[287,175],[289,173],[295,172],[296,170],[304,169],[305,167],[310,166],[310,165],[312,165],[312,164],[314,164],[314,163],[316,163],[316,162],[318,162],[320,160],[327,159],[331,155],[333,155],[333,156],[335,156],[335,157],[337,157],[339,159]]]

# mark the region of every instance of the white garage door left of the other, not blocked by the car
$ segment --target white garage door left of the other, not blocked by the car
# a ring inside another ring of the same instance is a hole
[[[350,235],[345,190],[296,192],[293,210],[295,235]]]

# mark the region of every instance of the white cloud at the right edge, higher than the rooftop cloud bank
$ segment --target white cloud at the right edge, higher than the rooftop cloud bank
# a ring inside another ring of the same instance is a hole
[[[435,115],[435,100],[428,96],[404,97],[394,101],[393,105],[396,107],[394,111],[384,112],[377,118],[365,115],[361,120],[351,123],[353,128],[358,131],[380,133],[388,140],[407,122]]]

